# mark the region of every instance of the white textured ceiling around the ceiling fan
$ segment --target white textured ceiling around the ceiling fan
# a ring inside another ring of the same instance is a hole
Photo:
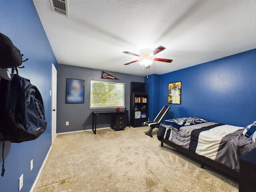
[[[60,64],[146,76],[256,48],[256,0],[69,0],[69,17],[34,4]],[[123,65],[160,45],[172,63]]]

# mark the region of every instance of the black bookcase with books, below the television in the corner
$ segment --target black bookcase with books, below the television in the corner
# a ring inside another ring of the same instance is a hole
[[[141,127],[146,121],[148,121],[148,94],[130,94],[131,126]]]

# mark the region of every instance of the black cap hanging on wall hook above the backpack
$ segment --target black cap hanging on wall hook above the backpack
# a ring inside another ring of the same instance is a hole
[[[0,33],[0,76],[11,79],[8,68],[16,68],[22,64],[22,54],[14,46],[10,38]]]

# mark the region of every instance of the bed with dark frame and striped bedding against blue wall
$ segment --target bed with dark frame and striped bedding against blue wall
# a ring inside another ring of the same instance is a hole
[[[192,156],[201,162],[202,168],[207,164],[238,179],[239,158],[256,148],[244,130],[244,127],[188,117],[161,122],[157,138],[162,147],[167,144]]]

